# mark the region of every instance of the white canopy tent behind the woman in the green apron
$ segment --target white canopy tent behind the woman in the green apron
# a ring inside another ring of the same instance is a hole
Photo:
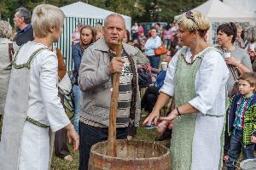
[[[220,24],[234,22],[236,24],[239,23],[241,26],[248,26],[253,25],[256,21],[252,15],[245,14],[241,10],[230,7],[219,0],[208,0],[192,10],[201,12],[210,20],[212,29],[209,31],[209,42],[213,44],[217,41],[216,30]],[[177,20],[178,16],[175,16],[174,19]]]

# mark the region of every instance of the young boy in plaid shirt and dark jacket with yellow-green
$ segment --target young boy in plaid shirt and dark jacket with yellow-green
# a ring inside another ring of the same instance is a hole
[[[244,73],[239,77],[239,93],[234,96],[229,112],[229,133],[231,134],[228,170],[236,169],[236,161],[243,152],[243,159],[253,159],[256,143],[256,74]]]

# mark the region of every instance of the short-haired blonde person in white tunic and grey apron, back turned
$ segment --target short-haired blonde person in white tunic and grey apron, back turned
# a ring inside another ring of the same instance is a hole
[[[74,149],[79,137],[69,121],[57,89],[58,61],[49,50],[61,36],[64,14],[52,5],[33,10],[35,39],[15,53],[3,117],[1,169],[49,169],[49,128],[67,129]],[[15,127],[15,128],[14,128]]]

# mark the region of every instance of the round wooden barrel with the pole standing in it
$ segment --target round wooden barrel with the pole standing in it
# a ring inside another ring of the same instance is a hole
[[[90,150],[89,170],[170,170],[166,146],[140,140],[117,140],[117,157],[107,156],[108,141]]]

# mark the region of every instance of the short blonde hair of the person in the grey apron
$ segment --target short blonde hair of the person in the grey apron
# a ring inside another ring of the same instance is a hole
[[[52,27],[61,28],[64,13],[54,5],[41,4],[33,10],[32,28],[36,37],[46,37]]]

